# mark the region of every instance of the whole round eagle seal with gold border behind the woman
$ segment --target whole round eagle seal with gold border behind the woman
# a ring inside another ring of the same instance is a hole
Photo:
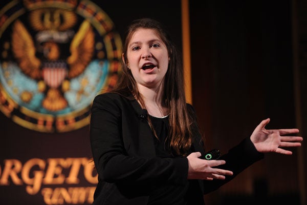
[[[122,42],[90,1],[14,1],[0,10],[0,111],[40,132],[89,124],[94,97],[112,89]]]

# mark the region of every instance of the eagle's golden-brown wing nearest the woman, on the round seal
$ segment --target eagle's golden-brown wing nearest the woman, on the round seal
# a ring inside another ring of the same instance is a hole
[[[70,65],[69,78],[81,74],[89,65],[94,54],[95,34],[87,20],[81,24],[70,45],[71,55],[67,58]]]

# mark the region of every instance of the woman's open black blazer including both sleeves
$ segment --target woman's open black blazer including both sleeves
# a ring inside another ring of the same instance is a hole
[[[194,112],[187,104],[189,112]],[[153,134],[147,122],[147,111],[133,98],[117,93],[95,97],[91,110],[90,139],[98,185],[93,204],[147,204],[150,189],[165,183],[187,183],[186,157],[159,158],[156,156]],[[193,114],[193,116],[196,116]],[[191,151],[204,154],[196,118],[192,125]],[[223,169],[233,171],[225,180],[194,180],[188,192],[188,204],[204,204],[203,194],[216,190],[263,158],[249,138],[232,148],[221,159]]]

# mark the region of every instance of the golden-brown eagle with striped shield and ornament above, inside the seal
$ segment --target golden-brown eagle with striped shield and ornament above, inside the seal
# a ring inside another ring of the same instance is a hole
[[[38,25],[40,17],[46,18],[46,15],[49,19],[43,22],[45,26],[42,23]],[[15,21],[12,29],[12,52],[18,66],[26,75],[38,81],[39,91],[46,93],[42,106],[50,111],[67,107],[68,102],[63,93],[69,89],[70,79],[84,71],[94,54],[95,34],[90,23],[84,20],[71,40],[70,55],[65,56],[61,44],[69,42],[69,36],[73,31],[61,31],[63,28],[57,25],[59,24],[57,21],[60,20],[57,17],[61,16],[70,18],[70,25],[75,22],[74,13],[69,11],[35,10],[31,13],[31,22],[40,30],[36,44],[20,20]],[[68,25],[65,29],[67,27]],[[63,38],[63,35],[67,37]]]

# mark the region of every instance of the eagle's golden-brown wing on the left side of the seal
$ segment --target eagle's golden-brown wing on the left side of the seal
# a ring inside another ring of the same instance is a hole
[[[12,51],[20,69],[31,78],[39,79],[40,60],[35,56],[35,46],[32,36],[20,20],[12,27]]]

